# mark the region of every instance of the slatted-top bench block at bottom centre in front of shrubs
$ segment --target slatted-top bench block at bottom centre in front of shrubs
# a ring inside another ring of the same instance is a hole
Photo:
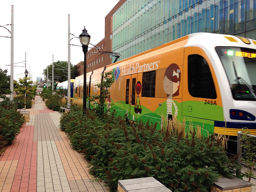
[[[118,192],[172,192],[153,177],[119,180]]]

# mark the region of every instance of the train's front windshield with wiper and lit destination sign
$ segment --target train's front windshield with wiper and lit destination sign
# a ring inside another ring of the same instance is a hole
[[[235,100],[256,100],[256,50],[216,47]]]

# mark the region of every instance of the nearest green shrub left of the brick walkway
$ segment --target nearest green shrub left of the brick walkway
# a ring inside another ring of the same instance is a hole
[[[24,117],[14,108],[0,106],[0,135],[8,145],[12,143],[18,135],[21,125],[24,123]]]

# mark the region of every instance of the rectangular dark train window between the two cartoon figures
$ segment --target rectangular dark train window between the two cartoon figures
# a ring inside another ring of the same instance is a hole
[[[156,71],[144,72],[142,75],[142,97],[155,97]]]

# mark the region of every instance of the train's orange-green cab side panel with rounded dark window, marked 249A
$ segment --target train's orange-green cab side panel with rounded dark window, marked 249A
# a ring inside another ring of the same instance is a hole
[[[212,133],[214,121],[223,119],[223,109],[212,63],[201,48],[186,48],[184,74],[182,115],[187,124]]]

